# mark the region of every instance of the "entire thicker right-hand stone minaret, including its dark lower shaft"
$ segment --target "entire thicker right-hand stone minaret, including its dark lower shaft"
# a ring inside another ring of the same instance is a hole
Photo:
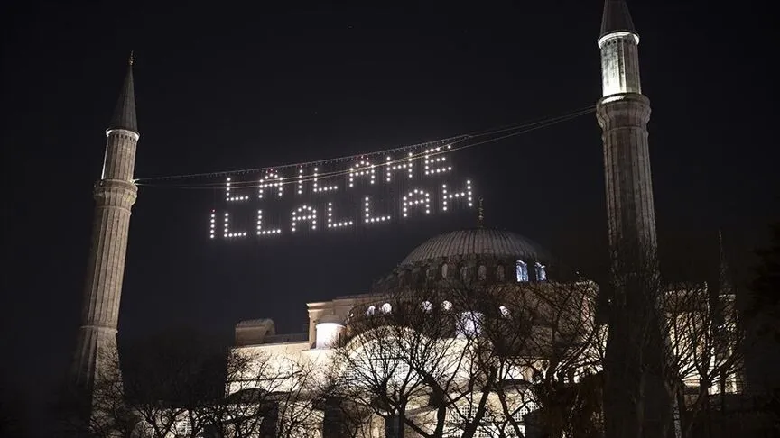
[[[647,143],[650,101],[639,80],[639,35],[624,0],[606,0],[599,35],[611,256],[604,414],[608,436],[662,437],[673,421],[664,392],[664,333]]]

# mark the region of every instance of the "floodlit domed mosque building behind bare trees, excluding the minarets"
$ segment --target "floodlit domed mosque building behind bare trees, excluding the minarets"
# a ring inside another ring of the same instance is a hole
[[[502,415],[500,400],[488,395],[489,414],[483,415],[485,419],[479,429],[483,434],[475,436],[498,436],[499,430],[506,436],[533,436],[527,434],[524,416],[533,413],[535,402],[525,382],[534,379],[534,372],[545,369],[544,356],[539,350],[552,348],[555,336],[565,337],[568,342],[578,345],[595,341],[603,347],[604,341],[603,326],[595,320],[598,287],[590,281],[559,280],[553,274],[558,270],[554,269],[553,262],[538,243],[515,233],[485,227],[444,233],[413,249],[395,269],[378,279],[369,293],[309,303],[308,333],[275,333],[274,322],[270,319],[237,324],[234,352],[262,362],[259,367],[268,368],[270,362],[270,368],[274,370],[283,369],[284,364],[294,364],[294,368],[301,370],[311,369],[312,365],[313,368],[338,369],[340,373],[351,375],[349,386],[373,393],[377,390],[376,379],[382,381],[388,367],[394,369],[391,374],[395,376],[388,379],[397,379],[399,387],[413,387],[422,379],[421,373],[409,370],[410,363],[388,358],[387,351],[405,348],[447,351],[442,353],[440,360],[447,362],[448,370],[438,376],[438,380],[441,382],[445,375],[452,379],[449,385],[442,386],[451,387],[452,394],[447,397],[454,400],[461,395],[462,388],[468,387],[468,380],[476,378],[474,370],[478,367],[468,352],[475,336],[485,336],[485,332],[490,331],[487,326],[497,329],[498,326],[490,324],[489,320],[499,320],[517,328],[493,332],[503,340],[532,333],[534,339],[519,342],[522,345],[516,348],[527,354],[523,359],[506,360],[501,378],[506,382],[520,382],[504,389],[505,394],[511,393],[515,403],[508,406],[504,414],[514,416],[515,421],[495,421]],[[395,314],[400,315],[396,317]],[[552,318],[534,318],[532,314],[551,315]],[[426,341],[407,344],[404,339],[395,340],[398,333],[394,330],[385,330],[385,324],[406,320],[410,315],[422,319],[404,326],[413,326],[431,335],[424,338]],[[526,327],[525,322],[531,318],[534,323]],[[552,319],[559,322],[553,323]],[[376,333],[382,333],[381,337],[377,338]],[[590,340],[586,341],[586,338]],[[431,347],[429,341],[440,346]],[[567,371],[575,374],[572,376],[575,380],[598,372],[596,356],[598,354],[593,351],[585,351],[577,358],[577,365]],[[441,362],[429,365],[436,369]],[[273,376],[272,373],[272,379]],[[318,379],[328,378],[323,375]],[[370,383],[372,381],[374,384]],[[274,381],[269,385],[274,388],[268,390],[278,391],[284,386]],[[253,382],[247,388],[246,382],[237,379],[229,382],[228,388],[239,396],[242,391],[256,387]],[[411,419],[413,424],[432,433],[437,421],[430,388],[409,390],[402,397],[405,396],[409,398],[404,403],[407,422]],[[392,405],[396,397],[397,394],[388,395],[387,401]],[[331,393],[331,403],[333,398]],[[276,403],[290,402],[284,399]],[[322,407],[321,418],[318,418],[322,424],[318,431],[321,435],[311,436],[418,436],[408,426],[400,424],[392,408],[382,415],[364,413],[357,427],[351,424],[351,428],[345,421],[344,408],[343,404]],[[276,409],[276,415],[280,416],[277,421],[289,421],[283,417],[284,406]],[[451,409],[449,415],[458,416]],[[488,416],[491,421],[487,421]],[[406,429],[404,435],[397,434],[399,428]],[[461,436],[461,429],[462,424],[455,420],[441,424],[442,436]]]

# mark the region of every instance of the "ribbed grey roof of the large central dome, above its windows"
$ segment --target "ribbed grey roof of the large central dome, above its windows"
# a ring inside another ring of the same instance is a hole
[[[438,235],[414,249],[401,265],[466,255],[513,257],[518,260],[550,260],[547,251],[519,234],[489,228],[460,230]]]

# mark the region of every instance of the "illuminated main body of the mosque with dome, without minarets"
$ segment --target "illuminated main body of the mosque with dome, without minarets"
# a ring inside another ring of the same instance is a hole
[[[389,320],[393,321],[395,312],[408,314],[411,310],[422,317],[441,318],[441,321],[445,322],[444,324],[450,324],[450,341],[444,343],[447,344],[447,349],[452,349],[453,358],[460,358],[463,355],[462,350],[466,348],[468,342],[458,338],[469,338],[478,334],[482,318],[489,311],[483,312],[480,309],[475,312],[473,308],[461,308],[462,300],[459,297],[454,297],[459,289],[463,291],[480,290],[492,294],[497,298],[496,312],[492,316],[506,318],[507,322],[516,321],[509,316],[512,312],[521,310],[515,308],[513,304],[517,304],[516,298],[521,297],[524,290],[526,291],[525,297],[531,297],[537,293],[552,296],[552,294],[563,292],[569,294],[570,297],[575,295],[576,297],[571,300],[570,304],[576,301],[578,306],[569,306],[564,311],[565,317],[581,320],[581,324],[573,324],[576,326],[575,331],[579,329],[579,332],[573,333],[573,335],[575,337],[581,336],[591,328],[599,330],[598,326],[590,325],[596,324],[596,322],[593,320],[595,309],[590,306],[594,303],[589,300],[590,297],[596,297],[598,287],[590,281],[563,284],[555,282],[554,277],[548,278],[547,270],[552,261],[550,257],[539,244],[515,233],[484,227],[444,233],[415,248],[395,269],[384,278],[377,280],[369,293],[309,303],[307,305],[308,333],[275,333],[274,322],[270,319],[249,320],[237,324],[234,351],[238,354],[246,354],[246,357],[249,358],[259,358],[257,360],[270,359],[274,362],[280,362],[276,366],[282,368],[283,363],[290,360],[291,363],[311,363],[315,364],[316,367],[328,369],[339,367],[337,364],[339,360],[335,357],[333,349],[339,346],[339,342],[348,342],[348,348],[356,350],[355,354],[358,355],[362,352],[366,359],[350,360],[348,365],[341,364],[342,372],[354,373],[356,372],[354,369],[357,368],[359,377],[356,380],[371,380],[379,377],[381,369],[386,366],[386,363],[371,365],[371,362],[377,360],[377,357],[376,351],[367,351],[371,350],[371,347],[364,345],[370,341],[348,341],[350,335],[360,335],[359,333],[350,333],[353,322],[357,325],[360,324],[361,320],[365,322],[365,320],[381,317],[389,317]],[[510,298],[508,302],[501,304],[501,297],[508,295],[512,295],[515,299]],[[527,301],[523,304],[528,306]],[[534,311],[540,310],[541,307],[534,306]],[[448,318],[448,315],[452,315],[452,317]],[[376,328],[370,322],[368,324],[372,328]],[[583,327],[587,328],[583,330]],[[544,336],[544,333],[539,330],[543,328],[541,325],[534,327],[534,334],[540,337]],[[565,329],[562,325],[554,328],[556,331],[565,331]],[[393,334],[385,333],[385,336],[389,337]],[[534,345],[540,343],[544,342],[537,340]],[[393,350],[394,346],[395,343],[391,341],[385,343],[384,348]],[[540,359],[539,363],[532,367],[524,367],[522,370],[518,368],[515,372],[510,371],[509,374],[517,381],[532,381],[534,370],[543,368],[541,361]],[[450,370],[454,375],[465,372],[468,367],[456,368],[457,370]],[[596,372],[598,370],[598,368],[594,368],[587,371]],[[408,370],[404,369],[402,374],[406,376],[407,372]],[[468,375],[468,372],[466,374]],[[508,377],[510,376],[507,375]],[[404,377],[398,379],[403,380]],[[468,377],[463,376],[461,379],[465,380]],[[461,383],[465,385],[465,382]],[[360,386],[357,381],[354,384]],[[245,389],[236,382],[229,387],[230,391],[237,394]],[[404,414],[408,417],[415,416],[415,423],[434,424],[435,409],[429,406],[431,394],[428,391],[422,391],[422,394],[410,395],[412,397]],[[515,394],[515,397],[523,398],[522,407],[512,406],[515,418],[518,420],[519,431],[524,436],[532,436],[526,434],[523,415],[528,415],[534,410],[533,397],[523,393]],[[495,399],[491,402],[497,404]],[[392,415],[392,413],[390,415],[369,414],[362,418],[364,422],[362,431],[349,430],[348,432],[345,430],[343,415],[339,409],[329,409],[327,406],[322,408],[321,436],[400,436],[396,435],[397,429],[404,427],[403,424],[398,423],[397,416]],[[427,432],[430,433],[431,430]],[[486,429],[483,433],[488,434],[476,436],[496,436],[493,434],[496,431],[491,432]],[[456,437],[460,436],[460,429],[455,424],[449,424],[445,427],[444,433],[443,436]],[[506,436],[517,436],[511,434],[509,427],[506,427],[506,433],[508,433]],[[404,436],[418,435],[407,428]]]

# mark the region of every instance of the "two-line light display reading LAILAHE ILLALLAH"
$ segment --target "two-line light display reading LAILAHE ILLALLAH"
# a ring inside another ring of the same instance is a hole
[[[472,181],[453,178],[452,152],[450,144],[429,144],[360,156],[346,165],[318,162],[264,169],[258,179],[239,180],[234,174],[225,179],[222,211],[210,212],[209,238],[346,229],[447,213],[456,205],[473,207]],[[285,191],[285,186],[294,190]],[[253,223],[256,233],[248,231]]]

